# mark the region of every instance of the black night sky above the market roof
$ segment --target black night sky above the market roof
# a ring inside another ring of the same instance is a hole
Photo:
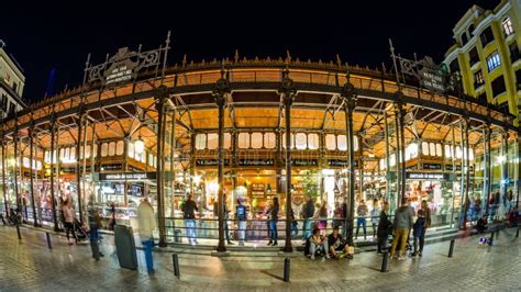
[[[49,71],[55,91],[78,86],[88,53],[93,63],[119,47],[158,47],[173,32],[169,65],[214,57],[335,59],[372,68],[390,64],[388,38],[402,56],[436,61],[452,45],[452,29],[473,4],[492,9],[499,0],[437,1],[69,1],[68,4],[1,4],[0,38],[22,65],[26,100],[43,98]],[[180,3],[178,3],[180,2]],[[73,4],[71,4],[73,3]]]

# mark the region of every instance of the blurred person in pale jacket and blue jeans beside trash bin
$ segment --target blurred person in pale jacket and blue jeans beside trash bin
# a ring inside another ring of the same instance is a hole
[[[154,209],[145,196],[140,206],[137,206],[137,228],[143,244],[143,251],[145,252],[146,270],[148,274],[154,274],[154,259],[152,248],[154,247],[153,232],[156,228],[156,220],[154,216]]]

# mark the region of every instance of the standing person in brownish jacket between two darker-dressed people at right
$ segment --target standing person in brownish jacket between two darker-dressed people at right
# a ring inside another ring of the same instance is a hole
[[[401,206],[395,214],[395,235],[392,238],[392,246],[390,250],[390,258],[395,256],[397,246],[400,245],[399,260],[403,259],[406,252],[406,244],[409,238],[409,231],[412,228],[412,212],[408,204],[407,198],[401,200]]]

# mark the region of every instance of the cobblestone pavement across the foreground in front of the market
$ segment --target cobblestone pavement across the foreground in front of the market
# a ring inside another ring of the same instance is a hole
[[[156,274],[149,277],[119,267],[113,247],[99,262],[88,244],[68,246],[53,236],[47,249],[45,234],[22,228],[19,242],[13,227],[0,226],[0,291],[520,291],[521,239],[516,229],[502,231],[492,247],[479,247],[477,237],[458,239],[454,258],[448,243],[425,246],[423,258],[390,260],[379,272],[381,257],[365,252],[353,261],[311,261],[291,257],[291,282],[281,281],[282,257],[209,257],[179,255],[180,280],[173,274],[171,254],[155,252]],[[106,242],[110,242],[107,238]],[[144,256],[138,252],[140,265]]]

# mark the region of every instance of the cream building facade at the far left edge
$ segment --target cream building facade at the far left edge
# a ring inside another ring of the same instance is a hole
[[[13,116],[25,108],[22,100],[25,77],[16,60],[5,50],[0,40],[0,119]]]

